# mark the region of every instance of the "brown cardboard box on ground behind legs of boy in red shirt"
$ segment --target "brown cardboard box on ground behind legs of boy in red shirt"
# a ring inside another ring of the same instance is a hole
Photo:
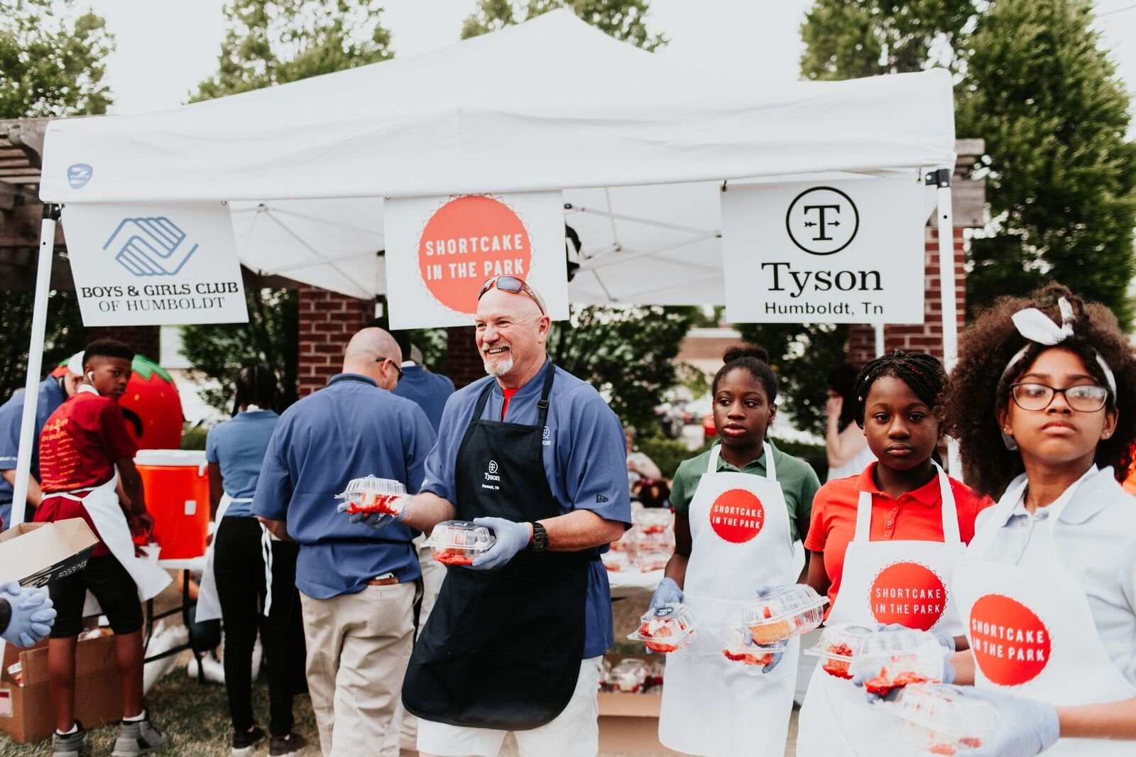
[[[20,664],[22,684],[8,671],[16,662]],[[98,727],[123,717],[115,635],[109,629],[103,629],[98,638],[83,639],[75,649],[75,717],[84,727]],[[55,727],[56,713],[48,691],[47,640],[27,649],[6,644],[0,674],[0,731],[15,741],[27,742],[47,739]]]

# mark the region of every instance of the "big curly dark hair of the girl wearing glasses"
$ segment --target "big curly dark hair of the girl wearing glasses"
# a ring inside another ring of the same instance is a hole
[[[1117,397],[1109,393],[1108,407],[1117,410],[1117,430],[1096,446],[1096,464],[1112,466],[1117,481],[1124,481],[1133,463],[1136,442],[1136,360],[1112,311],[1103,305],[1085,305],[1060,284],[1034,292],[1029,298],[1002,297],[983,309],[962,334],[959,363],[947,383],[938,408],[942,429],[959,441],[967,483],[985,494],[1000,494],[1025,471],[1021,455],[1009,450],[1002,440],[997,410],[1010,402],[1010,384],[1033,366],[1037,356],[1051,349],[1029,342],[1018,333],[1011,317],[1024,308],[1037,308],[1054,323],[1061,323],[1058,300],[1066,298],[1074,308],[1074,334],[1060,343],[1085,363],[1089,374],[1108,386],[1097,365],[1100,355],[1112,369]],[[1027,347],[1014,369],[1002,375],[1014,355]],[[1001,377],[999,377],[1001,376]]]

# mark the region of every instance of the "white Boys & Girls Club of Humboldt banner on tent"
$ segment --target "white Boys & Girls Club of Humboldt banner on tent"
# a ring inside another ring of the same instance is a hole
[[[61,221],[84,325],[249,321],[225,205],[68,205]]]

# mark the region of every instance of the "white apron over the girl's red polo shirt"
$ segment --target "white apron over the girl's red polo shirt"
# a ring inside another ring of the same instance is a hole
[[[943,502],[942,542],[870,541],[871,493],[860,492],[855,534],[844,554],[841,590],[828,614],[828,625],[901,623],[962,635],[958,602],[947,593],[947,587],[966,546],[959,536],[951,482],[941,467],[935,468]],[[801,707],[796,754],[876,757],[926,752],[900,735],[899,721],[893,714],[868,705],[863,689],[817,667]]]

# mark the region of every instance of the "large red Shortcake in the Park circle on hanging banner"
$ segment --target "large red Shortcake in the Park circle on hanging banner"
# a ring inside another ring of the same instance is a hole
[[[450,200],[434,211],[418,240],[418,271],[437,301],[477,311],[486,278],[528,276],[533,249],[525,224],[507,205],[484,194]]]

